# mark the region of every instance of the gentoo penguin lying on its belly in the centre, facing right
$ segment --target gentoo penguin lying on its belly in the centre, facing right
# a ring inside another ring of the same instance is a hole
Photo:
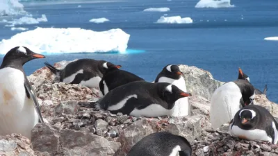
[[[170,83],[148,83],[135,81],[126,83],[111,90],[97,103],[79,103],[101,110],[109,110],[113,114],[122,112],[130,116],[170,116],[174,103],[179,98],[191,96]]]

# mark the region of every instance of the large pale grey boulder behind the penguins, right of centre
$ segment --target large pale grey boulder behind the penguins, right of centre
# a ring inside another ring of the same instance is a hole
[[[179,65],[179,69],[183,72],[186,80],[187,91],[194,96],[202,96],[211,100],[211,96],[215,89],[224,83],[213,79],[213,76],[204,69],[199,69],[195,66]]]

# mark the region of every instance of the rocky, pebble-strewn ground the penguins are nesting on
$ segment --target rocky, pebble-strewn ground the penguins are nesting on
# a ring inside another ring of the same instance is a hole
[[[59,62],[55,66],[65,64],[67,62]],[[158,131],[186,137],[193,146],[193,155],[278,155],[276,145],[231,137],[227,128],[221,132],[211,130],[209,99],[223,83],[197,67],[180,65],[180,68],[188,92],[193,94],[189,98],[192,116],[154,119],[79,107],[76,105],[79,101],[97,101],[99,90],[58,83],[58,78],[46,67],[38,69],[28,79],[37,92],[42,115],[48,123],[39,123],[33,128],[31,141],[16,134],[0,137],[0,155],[124,156],[142,137]],[[276,103],[264,95],[256,96],[255,100],[278,116]]]

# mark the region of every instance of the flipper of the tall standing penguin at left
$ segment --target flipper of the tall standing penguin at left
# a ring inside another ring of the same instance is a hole
[[[25,80],[24,80],[24,87],[25,87],[25,91],[26,91],[26,96],[28,98],[32,98],[34,107],[35,107],[35,112],[37,112],[38,116],[39,116],[39,121],[41,123],[44,123],[43,119],[42,119],[42,112],[40,112],[40,105],[37,101],[37,96],[33,90],[33,87],[30,85],[30,83],[28,82],[28,79],[25,76]]]

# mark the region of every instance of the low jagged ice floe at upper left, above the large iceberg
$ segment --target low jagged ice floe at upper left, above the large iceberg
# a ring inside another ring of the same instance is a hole
[[[15,25],[21,25],[21,24],[38,24],[40,22],[46,22],[47,21],[47,16],[42,15],[40,18],[33,18],[33,17],[21,17],[20,19],[13,19],[13,21],[7,21],[7,23],[10,24],[10,26],[15,26]],[[8,25],[7,25],[8,26]]]

